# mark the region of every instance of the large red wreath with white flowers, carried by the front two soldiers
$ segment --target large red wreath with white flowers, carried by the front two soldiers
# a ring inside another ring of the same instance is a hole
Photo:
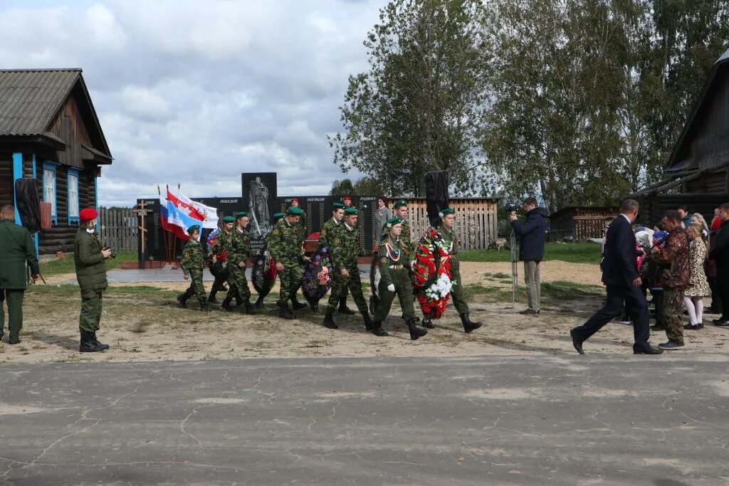
[[[443,238],[429,228],[416,248],[413,281],[423,313],[440,318],[451,298],[455,282],[451,281],[450,248]]]

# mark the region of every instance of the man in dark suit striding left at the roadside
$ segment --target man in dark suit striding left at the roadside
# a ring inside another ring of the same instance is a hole
[[[648,343],[648,305],[640,289],[641,278],[636,267],[636,238],[631,224],[638,216],[638,203],[626,199],[620,205],[620,216],[610,223],[605,240],[602,262],[602,281],[607,286],[605,307],[597,311],[585,324],[569,332],[577,353],[585,354],[582,342],[598,332],[602,326],[623,312],[623,302],[633,321],[635,354],[660,354],[663,350]]]

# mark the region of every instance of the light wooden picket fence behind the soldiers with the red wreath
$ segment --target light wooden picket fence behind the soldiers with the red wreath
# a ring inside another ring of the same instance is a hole
[[[496,236],[496,207],[498,200],[490,197],[451,199],[456,211],[456,235],[461,240],[461,250],[486,250]],[[408,198],[408,222],[413,238],[420,238],[428,228],[426,202],[421,197]]]

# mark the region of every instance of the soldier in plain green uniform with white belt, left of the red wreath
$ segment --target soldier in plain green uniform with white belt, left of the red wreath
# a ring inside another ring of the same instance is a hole
[[[372,332],[375,336],[386,336],[382,329],[382,321],[390,313],[392,300],[397,294],[405,315],[405,322],[408,323],[410,339],[416,340],[428,334],[426,329],[415,325],[415,307],[413,307],[413,282],[410,280],[410,260],[408,254],[403,251],[399,239],[402,232],[402,219],[390,218],[385,225],[384,234],[380,241],[378,259],[380,261],[380,283],[378,294],[380,300],[373,317]]]

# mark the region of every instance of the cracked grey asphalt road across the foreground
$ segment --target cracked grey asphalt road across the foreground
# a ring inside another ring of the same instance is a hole
[[[1,367],[3,485],[720,485],[729,357]]]

